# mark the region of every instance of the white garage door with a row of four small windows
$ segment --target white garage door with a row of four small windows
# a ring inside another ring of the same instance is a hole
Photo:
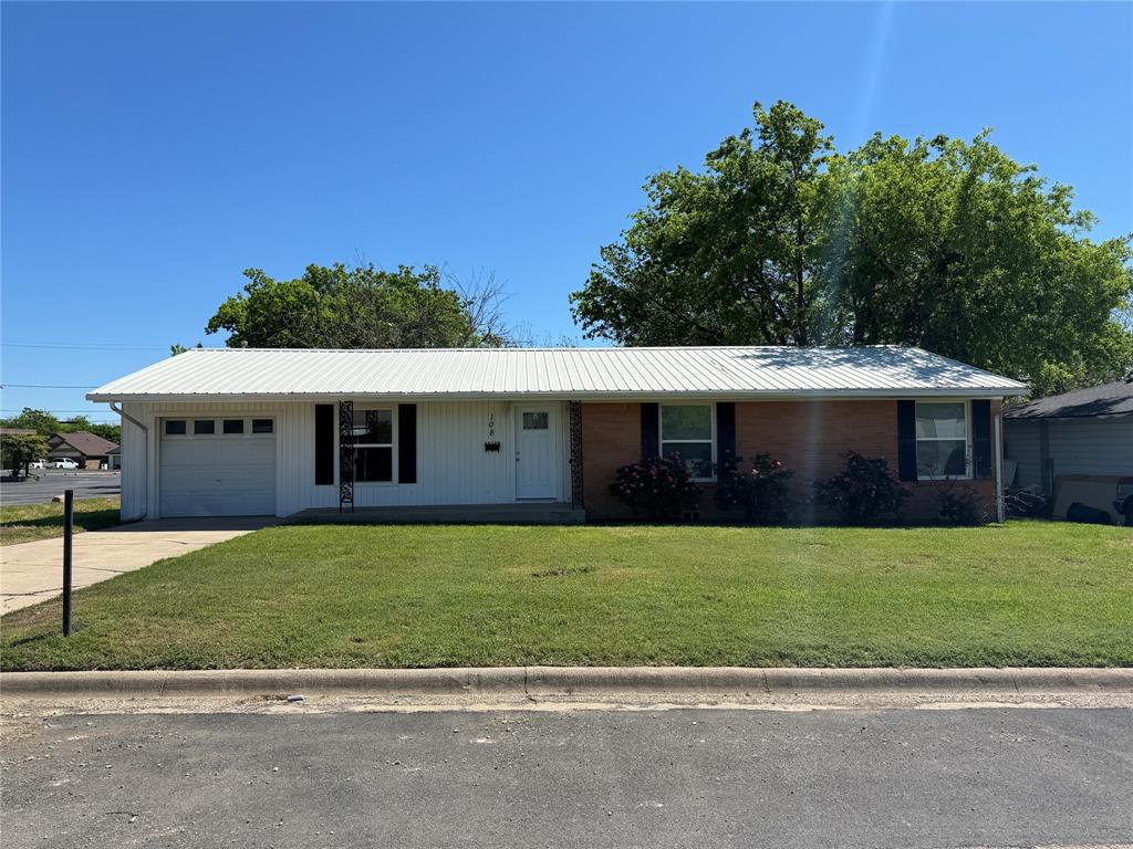
[[[274,420],[163,419],[159,487],[162,516],[274,515]]]

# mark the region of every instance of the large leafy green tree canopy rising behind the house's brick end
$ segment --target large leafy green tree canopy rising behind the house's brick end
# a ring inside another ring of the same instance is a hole
[[[918,345],[1034,394],[1133,365],[1133,242],[1092,241],[1073,194],[971,142],[875,135],[837,153],[778,102],[648,203],[571,295],[628,345]]]

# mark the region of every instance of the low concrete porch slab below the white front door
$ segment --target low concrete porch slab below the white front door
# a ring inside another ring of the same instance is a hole
[[[342,513],[337,507],[316,507],[295,514],[288,522],[291,524],[580,525],[586,522],[586,511],[557,501],[358,507],[353,512],[347,508]]]

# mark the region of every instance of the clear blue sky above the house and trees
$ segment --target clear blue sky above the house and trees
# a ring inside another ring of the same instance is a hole
[[[751,104],[841,149],[994,139],[1133,231],[1133,5],[2,5],[2,378],[91,386],[205,336],[262,267],[494,269],[568,294],[659,169]],[[66,344],[73,349],[25,348]],[[136,348],[122,348],[122,346]],[[104,406],[10,387],[22,406]]]

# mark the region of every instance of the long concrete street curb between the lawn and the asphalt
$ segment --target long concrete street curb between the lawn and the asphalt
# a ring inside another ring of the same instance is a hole
[[[1131,693],[1133,668],[811,669],[746,667],[485,667],[5,672],[0,697],[562,696],[631,693],[789,696],[807,692]]]

